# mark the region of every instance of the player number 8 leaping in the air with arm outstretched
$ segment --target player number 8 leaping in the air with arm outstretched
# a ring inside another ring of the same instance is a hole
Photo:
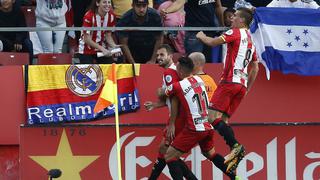
[[[209,122],[231,148],[225,161],[228,164],[228,171],[238,166],[245,150],[235,139],[234,132],[227,122],[243,97],[250,91],[259,70],[255,47],[248,31],[252,18],[251,10],[239,8],[232,17],[232,29],[220,37],[211,38],[203,32],[197,34],[199,40],[210,46],[227,43],[221,81],[210,100]]]

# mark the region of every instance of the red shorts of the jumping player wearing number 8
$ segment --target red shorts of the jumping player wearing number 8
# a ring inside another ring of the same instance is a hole
[[[210,100],[209,109],[220,111],[230,117],[238,108],[246,91],[247,88],[242,84],[219,83]]]

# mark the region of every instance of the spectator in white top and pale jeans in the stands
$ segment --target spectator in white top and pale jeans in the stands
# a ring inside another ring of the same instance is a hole
[[[66,27],[67,12],[65,0],[37,0],[37,27]],[[44,53],[61,53],[65,31],[37,32]]]

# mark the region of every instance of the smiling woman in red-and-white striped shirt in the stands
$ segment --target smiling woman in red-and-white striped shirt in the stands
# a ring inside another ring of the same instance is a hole
[[[84,15],[83,27],[113,27],[115,16],[111,9],[111,0],[93,0],[89,11]],[[111,49],[119,48],[115,44],[110,31],[83,31],[79,41],[79,60],[81,64],[92,64],[96,59],[99,64],[109,64],[118,61],[113,58]],[[97,57],[97,53],[102,55]],[[121,55],[120,52],[115,56]]]

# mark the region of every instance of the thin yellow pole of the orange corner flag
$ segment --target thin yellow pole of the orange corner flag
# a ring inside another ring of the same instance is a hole
[[[113,64],[115,70],[113,71],[114,79],[115,79],[115,86],[113,86],[114,92],[114,114],[115,114],[115,121],[116,121],[116,140],[117,140],[117,160],[118,160],[118,179],[122,180],[121,175],[121,147],[120,147],[120,129],[119,129],[119,108],[118,108],[118,83],[117,83],[117,66]]]

